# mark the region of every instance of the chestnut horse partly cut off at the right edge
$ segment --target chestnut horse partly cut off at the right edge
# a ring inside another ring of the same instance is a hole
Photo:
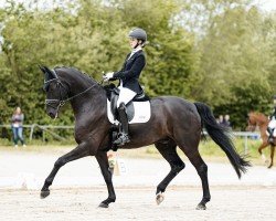
[[[266,157],[263,154],[263,149],[270,146],[270,164],[268,168],[273,167],[273,159],[274,159],[274,151],[275,151],[275,146],[276,146],[276,140],[274,138],[274,144],[268,143],[268,136],[266,134],[266,129],[268,126],[269,119],[267,116],[265,116],[262,113],[256,113],[256,112],[251,112],[248,114],[248,126],[247,130],[254,131],[256,129],[256,126],[259,128],[259,134],[263,143],[258,147],[258,152],[262,156],[262,158],[266,161]]]

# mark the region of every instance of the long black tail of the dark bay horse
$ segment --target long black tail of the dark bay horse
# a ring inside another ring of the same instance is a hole
[[[241,178],[241,171],[246,172],[246,167],[251,166],[250,161],[236,152],[235,146],[229,135],[229,129],[216,123],[210,107],[199,102],[194,103],[194,105],[200,114],[203,126],[208,130],[208,134],[226,154],[230,162],[237,173],[237,177]]]

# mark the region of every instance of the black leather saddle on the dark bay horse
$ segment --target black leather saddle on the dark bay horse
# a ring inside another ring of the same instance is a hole
[[[107,99],[110,102],[110,112],[114,116],[114,119],[118,120],[118,112],[117,112],[117,101],[119,98],[119,88],[116,87],[114,84],[109,84],[104,87],[106,91]],[[145,94],[142,91],[141,93],[137,94],[131,102],[126,105],[126,113],[128,122],[131,122],[135,116],[135,105],[134,102],[148,102],[150,101],[149,96]]]

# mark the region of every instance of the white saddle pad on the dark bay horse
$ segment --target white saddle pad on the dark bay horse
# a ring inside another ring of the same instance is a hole
[[[147,102],[134,102],[135,116],[128,124],[147,123],[150,119],[150,103]],[[119,122],[114,119],[110,110],[110,102],[107,99],[107,117],[112,124],[118,125]]]

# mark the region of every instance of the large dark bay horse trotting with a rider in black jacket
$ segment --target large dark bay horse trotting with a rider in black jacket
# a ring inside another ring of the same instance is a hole
[[[75,149],[60,157],[45,179],[41,198],[50,194],[59,169],[65,164],[86,156],[95,156],[105,182],[108,198],[99,207],[107,208],[115,202],[116,194],[108,168],[107,149],[110,148],[109,130],[113,126],[107,118],[106,91],[96,81],[72,67],[40,67],[44,73],[46,92],[46,113],[56,118],[60,107],[70,102],[75,116]],[[208,166],[202,160],[198,146],[203,125],[211,138],[226,154],[238,178],[246,171],[250,162],[241,157],[233,146],[226,129],[219,126],[211,109],[202,103],[190,103],[179,97],[161,96],[150,99],[151,117],[145,124],[131,124],[131,141],[120,148],[131,149],[155,144],[171,170],[157,186],[156,200],[160,203],[162,193],[170,181],[185,167],[177,154],[177,146],[188,156],[201,178],[203,197],[197,209],[204,210],[210,201]]]

